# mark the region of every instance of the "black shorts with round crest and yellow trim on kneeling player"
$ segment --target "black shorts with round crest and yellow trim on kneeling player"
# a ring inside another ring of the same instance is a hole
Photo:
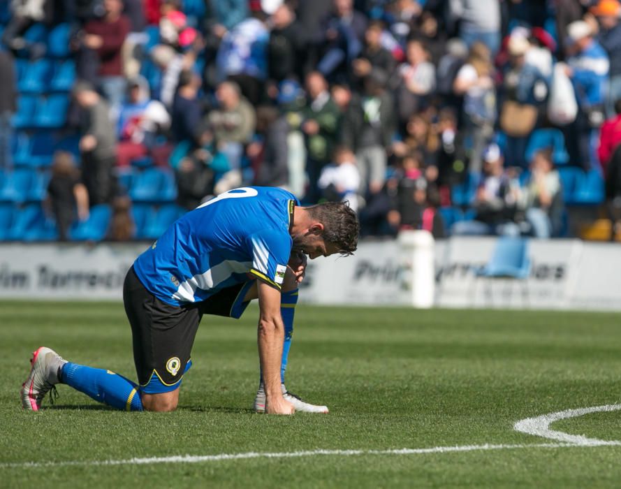
[[[140,390],[174,391],[191,366],[190,353],[203,314],[239,318],[253,281],[222,289],[207,300],[173,306],[145,289],[133,267],[123,284],[123,302],[131,325],[133,361]]]

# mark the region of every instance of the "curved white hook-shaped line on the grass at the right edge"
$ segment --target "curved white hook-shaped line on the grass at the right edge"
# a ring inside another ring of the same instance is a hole
[[[527,433],[527,435],[534,435],[536,437],[553,439],[573,445],[621,445],[621,441],[606,441],[597,438],[587,438],[583,435],[569,435],[569,433],[564,433],[562,431],[550,430],[550,424],[554,423],[555,421],[560,421],[567,418],[576,418],[578,416],[584,416],[585,414],[606,411],[618,411],[620,409],[621,404],[606,404],[604,406],[583,407],[580,409],[566,409],[565,411],[558,411],[556,413],[543,414],[543,416],[537,416],[536,418],[526,418],[520,420],[515,425],[513,425],[513,429],[516,431]]]

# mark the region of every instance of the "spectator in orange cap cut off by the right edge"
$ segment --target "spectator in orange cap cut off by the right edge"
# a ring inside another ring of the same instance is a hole
[[[600,0],[591,9],[597,18],[597,41],[611,61],[610,80],[606,89],[606,115],[614,117],[615,101],[621,98],[621,4],[617,0]]]

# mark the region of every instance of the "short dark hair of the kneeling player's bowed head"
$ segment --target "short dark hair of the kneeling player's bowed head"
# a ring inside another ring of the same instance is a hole
[[[358,247],[360,224],[348,202],[326,202],[306,207],[312,219],[323,224],[323,240],[335,245],[341,254],[351,255]]]

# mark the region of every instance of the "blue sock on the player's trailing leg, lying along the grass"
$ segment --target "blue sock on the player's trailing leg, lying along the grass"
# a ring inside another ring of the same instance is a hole
[[[122,375],[101,368],[66,363],[61,370],[63,384],[89,395],[98,402],[125,411],[142,411],[138,386]]]

